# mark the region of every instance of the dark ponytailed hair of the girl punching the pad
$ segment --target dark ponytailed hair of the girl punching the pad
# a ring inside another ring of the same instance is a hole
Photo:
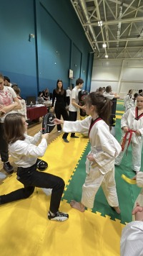
[[[111,101],[105,98],[102,94],[98,94],[95,91],[89,93],[85,97],[85,102],[89,106],[96,106],[97,114],[101,117],[104,122],[109,125],[109,118],[111,116],[112,104]]]

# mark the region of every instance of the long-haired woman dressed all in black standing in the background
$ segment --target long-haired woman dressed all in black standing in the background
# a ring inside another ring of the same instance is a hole
[[[56,103],[54,106],[54,101],[56,98]],[[61,80],[58,80],[56,82],[56,89],[53,90],[53,97],[52,97],[52,108],[55,111],[56,118],[61,119],[61,116],[64,120],[69,120],[69,115],[66,111],[66,90],[63,88],[63,82]],[[58,132],[61,132],[61,124],[57,124],[57,130]],[[69,142],[67,139],[67,134],[63,134],[63,140],[64,142]]]

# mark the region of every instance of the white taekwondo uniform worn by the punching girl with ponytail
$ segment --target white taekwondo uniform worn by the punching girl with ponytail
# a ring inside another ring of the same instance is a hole
[[[110,134],[108,125],[102,119],[94,120],[90,127],[92,117],[88,116],[82,121],[64,121],[64,132],[88,132],[94,162],[86,161],[87,177],[82,187],[82,204],[92,209],[94,197],[102,185],[104,194],[110,206],[119,206],[116,183],[114,180],[114,159],[119,155],[121,146]]]

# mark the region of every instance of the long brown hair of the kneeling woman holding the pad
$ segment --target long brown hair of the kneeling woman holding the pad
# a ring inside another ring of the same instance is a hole
[[[4,137],[8,143],[24,140],[24,123],[22,114],[7,114],[4,119]]]

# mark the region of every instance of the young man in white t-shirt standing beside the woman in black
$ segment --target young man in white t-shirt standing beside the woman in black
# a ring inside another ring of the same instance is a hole
[[[76,86],[71,91],[70,104],[69,104],[69,121],[77,121],[77,110],[85,109],[84,106],[79,106],[79,91],[82,89],[84,81],[78,78],[76,81]],[[67,133],[68,135],[68,133]],[[78,138],[75,133],[71,133],[71,138]],[[66,138],[63,138],[64,142],[69,142]]]

